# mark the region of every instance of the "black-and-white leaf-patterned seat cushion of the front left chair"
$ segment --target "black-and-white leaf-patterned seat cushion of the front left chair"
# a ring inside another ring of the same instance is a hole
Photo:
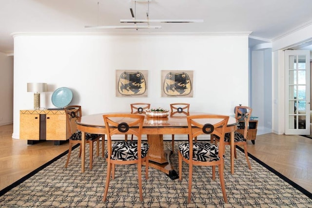
[[[141,143],[141,157],[147,155],[149,146],[146,143]],[[105,154],[108,157],[108,152]],[[115,142],[112,146],[112,160],[137,160],[137,142]]]

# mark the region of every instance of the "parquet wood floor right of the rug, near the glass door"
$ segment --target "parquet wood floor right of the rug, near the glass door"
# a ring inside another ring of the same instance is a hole
[[[256,158],[312,193],[312,139],[298,135],[257,135],[247,150]]]

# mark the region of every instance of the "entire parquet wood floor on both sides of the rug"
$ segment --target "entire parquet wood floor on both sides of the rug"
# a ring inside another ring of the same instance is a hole
[[[26,140],[12,139],[12,132],[12,124],[0,126],[0,190],[68,150],[67,142],[59,146],[53,141],[27,145]],[[257,135],[255,145],[248,141],[248,152],[312,192],[312,139]]]

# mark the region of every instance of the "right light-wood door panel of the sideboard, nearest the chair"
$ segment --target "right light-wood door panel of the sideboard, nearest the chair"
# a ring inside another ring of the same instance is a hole
[[[46,140],[66,140],[65,114],[47,114]]]

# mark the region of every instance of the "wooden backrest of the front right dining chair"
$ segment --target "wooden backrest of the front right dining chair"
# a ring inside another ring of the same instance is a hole
[[[216,114],[189,115],[186,117],[190,138],[190,147],[193,147],[193,139],[202,134],[215,134],[220,137],[219,157],[223,160],[224,134],[228,125],[229,116]],[[193,155],[193,148],[190,148],[190,155]]]

